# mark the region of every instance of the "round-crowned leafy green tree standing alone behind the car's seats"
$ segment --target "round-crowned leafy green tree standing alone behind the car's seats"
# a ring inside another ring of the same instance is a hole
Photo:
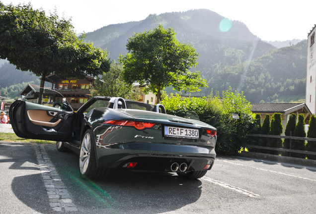
[[[157,94],[157,103],[165,87],[193,92],[207,86],[199,72],[188,71],[197,65],[195,49],[177,41],[172,28],[166,30],[159,25],[154,30],[136,33],[126,47],[128,53],[120,57],[123,78],[128,83],[147,83],[149,87],[145,92]]]

